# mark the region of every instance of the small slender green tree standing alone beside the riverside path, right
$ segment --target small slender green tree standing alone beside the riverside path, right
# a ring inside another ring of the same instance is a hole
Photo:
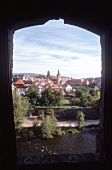
[[[85,117],[85,115],[82,111],[77,112],[77,122],[78,122],[79,128],[83,127],[84,117]]]

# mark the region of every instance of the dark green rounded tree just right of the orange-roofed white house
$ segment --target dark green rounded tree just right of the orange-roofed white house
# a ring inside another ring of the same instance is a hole
[[[30,85],[25,93],[25,96],[29,99],[30,110],[36,112],[36,108],[40,102],[40,94],[38,87],[35,84]]]

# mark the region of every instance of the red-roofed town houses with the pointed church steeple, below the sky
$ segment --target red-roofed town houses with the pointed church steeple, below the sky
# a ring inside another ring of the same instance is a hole
[[[25,94],[25,91],[33,83],[38,87],[39,93],[44,91],[46,88],[51,87],[57,91],[61,90],[64,94],[65,90],[68,92],[74,92],[74,86],[91,85],[94,83],[94,79],[72,79],[66,77],[63,78],[61,77],[59,70],[57,76],[52,76],[51,78],[38,78],[33,76],[31,77],[16,75],[13,77],[12,89],[15,90],[18,94]],[[99,88],[101,88],[101,83],[99,84]]]

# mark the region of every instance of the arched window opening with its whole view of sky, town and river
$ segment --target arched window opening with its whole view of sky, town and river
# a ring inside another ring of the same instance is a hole
[[[99,36],[63,20],[16,31],[12,89],[18,161],[24,156],[28,163],[33,156],[96,153],[101,93]],[[45,96],[48,89],[52,98]],[[80,124],[78,111],[82,113]],[[26,114],[21,116],[23,112]],[[56,117],[57,127],[51,115]]]

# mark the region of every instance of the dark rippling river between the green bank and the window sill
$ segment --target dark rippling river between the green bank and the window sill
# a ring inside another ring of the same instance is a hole
[[[69,134],[53,139],[30,139],[17,142],[18,157],[96,152],[97,128],[85,127],[80,134]]]

